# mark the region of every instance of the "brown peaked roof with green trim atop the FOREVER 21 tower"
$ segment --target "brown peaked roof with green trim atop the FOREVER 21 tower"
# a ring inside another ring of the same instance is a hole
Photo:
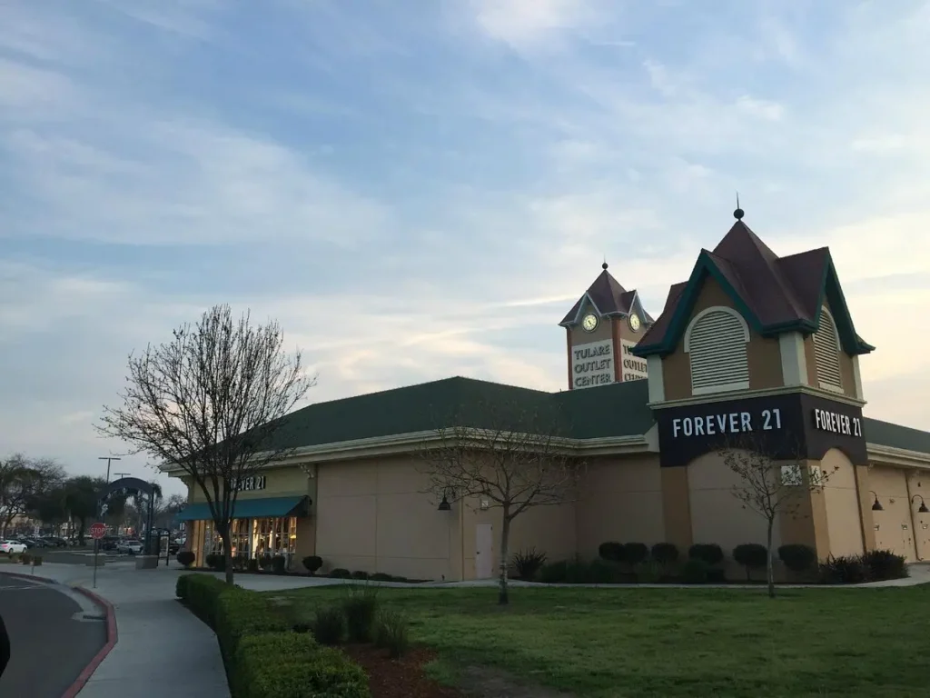
[[[636,345],[635,354],[666,354],[674,348],[684,333],[685,315],[690,315],[690,308],[678,312],[679,306],[696,300],[706,275],[717,277],[746,321],[764,336],[792,329],[816,331],[827,296],[844,350],[866,354],[874,348],[856,334],[829,248],[779,258],[748,225],[737,221],[712,252],[701,250],[691,278],[671,287],[662,315]]]

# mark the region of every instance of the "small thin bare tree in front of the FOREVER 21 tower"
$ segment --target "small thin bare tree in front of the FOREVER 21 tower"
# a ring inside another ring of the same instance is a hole
[[[792,452],[801,454],[800,444]],[[775,565],[772,537],[778,517],[805,517],[804,505],[812,492],[820,491],[833,468],[825,472],[820,467],[808,467],[807,459],[785,459],[773,455],[762,438],[743,436],[727,443],[720,455],[726,466],[738,477],[731,490],[744,509],[765,519],[765,579],[768,596],[775,598]]]

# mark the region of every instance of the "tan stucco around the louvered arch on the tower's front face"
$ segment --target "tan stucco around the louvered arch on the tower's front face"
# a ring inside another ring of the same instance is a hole
[[[736,307],[720,284],[712,278],[707,278],[697,295],[697,302],[685,327],[691,322],[691,318],[702,310],[718,305],[727,308]],[[764,338],[750,329],[750,342],[746,346],[746,356],[749,362],[751,390],[776,388],[784,384],[781,373],[781,350],[777,339]],[[691,359],[684,353],[684,337],[675,351],[662,359],[662,375],[667,400],[691,397]]]

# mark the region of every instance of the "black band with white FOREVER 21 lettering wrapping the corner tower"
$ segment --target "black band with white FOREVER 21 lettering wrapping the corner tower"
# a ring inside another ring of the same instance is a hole
[[[729,448],[764,451],[775,460],[820,460],[842,450],[868,463],[862,410],[804,394],[750,397],[656,410],[663,466],[687,465]]]

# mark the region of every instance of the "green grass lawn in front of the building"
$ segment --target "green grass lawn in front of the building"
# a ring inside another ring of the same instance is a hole
[[[274,592],[302,611],[342,587]],[[438,670],[496,666],[576,696],[930,695],[930,585],[883,589],[380,589]]]

